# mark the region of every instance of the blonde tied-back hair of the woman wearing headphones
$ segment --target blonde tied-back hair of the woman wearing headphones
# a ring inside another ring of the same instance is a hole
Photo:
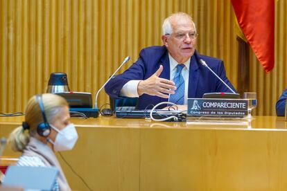
[[[69,107],[64,98],[52,93],[42,94],[42,102],[44,113],[49,123],[54,122],[55,116],[62,111],[63,107]],[[22,152],[28,144],[30,136],[37,135],[37,126],[43,121],[39,103],[36,100],[36,96],[33,96],[26,105],[24,125],[14,129],[8,138],[8,143],[12,150]],[[25,131],[26,127],[24,126],[28,127],[28,132]]]

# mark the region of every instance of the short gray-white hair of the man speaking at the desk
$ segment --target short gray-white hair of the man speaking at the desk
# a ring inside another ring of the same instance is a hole
[[[195,24],[194,24],[191,16],[189,16],[185,12],[177,12],[177,13],[170,15],[166,19],[164,19],[164,24],[162,24],[162,35],[167,35],[167,34],[173,33],[173,28],[171,27],[171,21],[173,21],[175,19],[187,19],[187,20],[191,21],[191,23],[193,24],[193,28],[195,30],[195,33],[196,33]]]

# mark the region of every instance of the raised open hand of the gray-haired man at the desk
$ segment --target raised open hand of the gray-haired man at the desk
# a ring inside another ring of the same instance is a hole
[[[150,96],[169,98],[169,95],[166,95],[166,93],[175,93],[176,87],[173,81],[159,78],[159,75],[162,73],[163,69],[164,67],[160,65],[159,69],[152,76],[150,76],[150,78],[139,82],[139,85],[137,86],[139,96],[146,93]]]

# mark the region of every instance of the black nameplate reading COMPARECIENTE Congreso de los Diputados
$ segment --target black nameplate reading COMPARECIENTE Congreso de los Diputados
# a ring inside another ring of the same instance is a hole
[[[243,118],[248,102],[244,99],[189,98],[187,116]]]

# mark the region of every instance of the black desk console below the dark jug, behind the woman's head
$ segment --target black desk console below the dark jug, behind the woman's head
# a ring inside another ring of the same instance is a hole
[[[70,111],[84,113],[88,118],[98,117],[98,109],[92,108],[92,93],[69,91],[55,94],[62,96],[67,100]]]

